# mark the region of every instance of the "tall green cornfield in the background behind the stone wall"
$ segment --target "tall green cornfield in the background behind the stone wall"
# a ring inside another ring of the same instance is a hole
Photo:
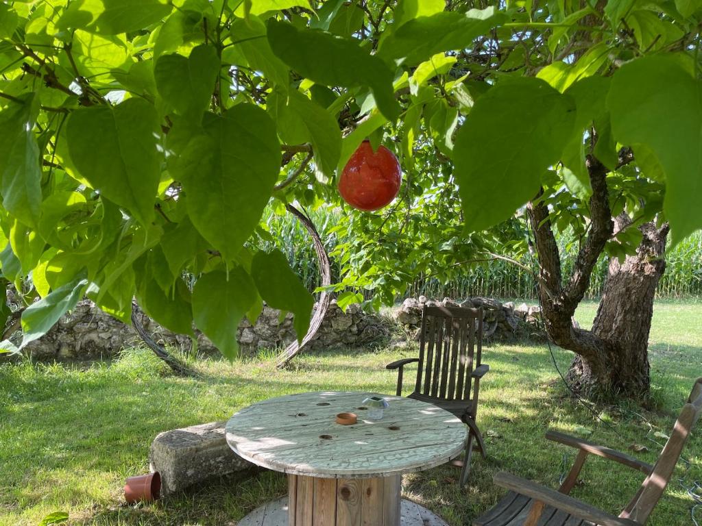
[[[312,221],[317,226],[328,251],[336,245],[334,235],[325,234],[338,219],[338,212],[320,208],[310,213]],[[310,238],[305,229],[290,215],[274,215],[268,213],[265,223],[270,232],[267,238],[267,248],[282,250],[294,271],[300,276],[307,288],[314,290],[319,285],[319,271],[317,260]],[[561,240],[561,257],[564,276],[568,276],[576,257],[576,248],[568,250],[567,247],[574,243]],[[510,254],[505,254],[514,257]],[[529,269],[536,271],[536,259],[530,255],[516,257],[516,259]],[[665,274],[658,283],[657,295],[662,299],[684,299],[702,296],[702,232],[696,232],[689,238],[679,243],[675,248],[669,249],[666,254],[667,267]],[[332,259],[332,283],[339,281],[340,267]],[[600,297],[604,282],[607,279],[607,258],[601,257],[597,267],[590,277],[590,288],[585,297],[594,299]],[[503,260],[495,260],[482,264],[473,264],[468,267],[464,276],[443,282],[436,278],[418,278],[407,288],[406,296],[417,297],[536,297],[534,288],[534,275],[531,271],[518,267]]]

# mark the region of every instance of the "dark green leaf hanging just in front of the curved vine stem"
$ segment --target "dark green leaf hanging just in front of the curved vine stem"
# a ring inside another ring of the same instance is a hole
[[[290,269],[283,253],[280,250],[256,252],[251,262],[251,277],[264,302],[295,315],[293,326],[301,342],[310,327],[314,298]]]

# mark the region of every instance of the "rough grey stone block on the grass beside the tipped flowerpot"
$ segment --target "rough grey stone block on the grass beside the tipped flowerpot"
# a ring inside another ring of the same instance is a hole
[[[161,494],[178,492],[207,478],[253,465],[227,445],[225,424],[210,422],[157,435],[151,445],[150,468],[161,475]]]

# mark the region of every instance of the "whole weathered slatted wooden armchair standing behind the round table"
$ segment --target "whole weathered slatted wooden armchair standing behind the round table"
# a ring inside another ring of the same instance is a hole
[[[482,308],[424,306],[419,358],[404,358],[386,365],[397,369],[397,396],[402,396],[403,368],[417,363],[417,378],[409,398],[437,405],[468,426],[461,485],[468,479],[474,442],[485,456],[485,443],[475,423],[480,379],[490,370],[489,365],[480,363],[482,336]]]

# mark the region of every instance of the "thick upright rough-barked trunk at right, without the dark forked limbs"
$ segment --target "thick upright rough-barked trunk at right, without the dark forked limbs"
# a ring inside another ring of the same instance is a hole
[[[616,218],[615,224],[616,230],[625,228],[628,217]],[[649,330],[656,286],[665,271],[668,224],[656,228],[649,222],[640,231],[636,254],[623,263],[609,262],[592,325],[599,352],[579,354],[569,370],[571,386],[590,397],[644,400],[649,394]]]

